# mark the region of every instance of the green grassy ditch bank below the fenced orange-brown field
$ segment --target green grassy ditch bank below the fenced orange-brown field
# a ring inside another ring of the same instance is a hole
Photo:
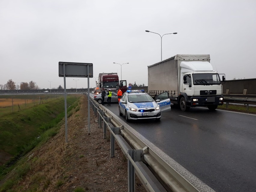
[[[68,117],[72,109],[78,111],[81,96],[67,97]],[[65,117],[64,99],[59,98],[46,104],[38,105],[23,111],[5,115],[0,118],[0,157],[9,157],[0,166],[0,181],[12,171],[12,176],[1,183],[0,191],[8,190],[29,170],[26,160],[19,161],[19,157],[31,151],[35,146],[45,143],[59,132],[58,123]],[[2,158],[4,161],[4,158]]]

